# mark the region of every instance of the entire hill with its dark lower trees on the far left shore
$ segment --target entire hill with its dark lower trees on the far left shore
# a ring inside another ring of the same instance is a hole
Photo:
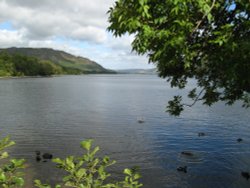
[[[49,48],[0,49],[0,76],[114,74],[98,63]]]

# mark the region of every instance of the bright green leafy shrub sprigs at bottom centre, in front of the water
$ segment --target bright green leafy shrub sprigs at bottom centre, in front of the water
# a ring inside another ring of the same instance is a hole
[[[67,172],[63,178],[62,185],[56,185],[55,188],[75,187],[75,188],[139,188],[140,175],[136,170],[125,169],[125,179],[110,183],[107,178],[111,175],[106,168],[113,165],[115,161],[105,156],[102,159],[95,157],[99,147],[92,149],[92,140],[81,142],[81,148],[86,151],[80,157],[69,156],[65,159],[56,158],[53,161],[57,167]],[[48,184],[42,184],[40,180],[35,180],[35,186],[39,188],[51,188]]]

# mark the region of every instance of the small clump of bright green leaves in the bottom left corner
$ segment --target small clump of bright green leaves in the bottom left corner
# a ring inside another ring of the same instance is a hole
[[[4,150],[14,144],[9,137],[0,140],[0,160],[6,161],[8,159],[9,155]],[[20,172],[20,169],[24,168],[23,159],[10,159],[8,162],[0,164],[0,187],[15,188],[24,185],[23,173]]]

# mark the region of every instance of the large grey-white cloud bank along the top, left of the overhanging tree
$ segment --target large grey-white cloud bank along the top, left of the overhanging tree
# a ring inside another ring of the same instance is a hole
[[[41,3],[38,3],[41,2]],[[25,29],[31,39],[56,35],[104,41],[107,16],[104,1],[56,0],[0,1],[0,17],[11,20],[15,29]]]

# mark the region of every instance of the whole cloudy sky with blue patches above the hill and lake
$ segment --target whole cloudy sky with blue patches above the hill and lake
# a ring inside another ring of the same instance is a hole
[[[49,47],[88,57],[105,68],[152,68],[131,53],[132,36],[106,31],[115,0],[0,0],[0,48]]]

